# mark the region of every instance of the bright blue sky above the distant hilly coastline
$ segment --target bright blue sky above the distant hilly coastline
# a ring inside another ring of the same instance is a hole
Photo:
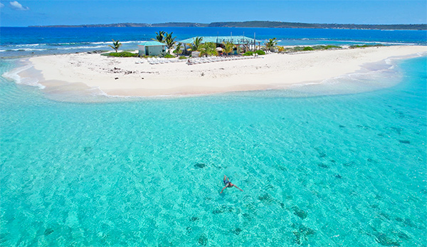
[[[0,0],[0,26],[216,21],[417,24],[427,23],[427,1]]]

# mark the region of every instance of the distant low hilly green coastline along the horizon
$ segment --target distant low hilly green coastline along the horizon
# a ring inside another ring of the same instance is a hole
[[[29,26],[49,28],[102,28],[102,27],[228,27],[228,28],[330,28],[330,29],[376,29],[376,30],[427,30],[427,24],[322,24],[282,21],[233,21],[233,22],[167,22],[167,23],[113,23],[91,25]]]

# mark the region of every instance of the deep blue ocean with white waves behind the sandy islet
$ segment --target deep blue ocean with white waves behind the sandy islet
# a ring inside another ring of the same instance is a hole
[[[427,45],[427,31],[307,28],[14,28],[0,27],[0,57],[36,56],[110,50],[112,39],[122,49],[136,50],[156,32],[173,32],[176,41],[196,36],[248,36],[259,41],[278,38],[281,46],[354,45],[362,43]]]

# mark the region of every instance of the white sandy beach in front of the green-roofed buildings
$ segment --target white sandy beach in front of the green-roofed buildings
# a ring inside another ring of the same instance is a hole
[[[268,54],[263,58],[187,65],[150,65],[142,58],[110,58],[74,53],[30,58],[41,71],[39,83],[99,88],[107,95],[197,95],[243,90],[286,88],[354,73],[366,63],[427,53],[427,46],[373,48]],[[144,61],[144,63],[139,63]],[[117,79],[116,79],[117,78]],[[67,83],[65,83],[67,82]]]

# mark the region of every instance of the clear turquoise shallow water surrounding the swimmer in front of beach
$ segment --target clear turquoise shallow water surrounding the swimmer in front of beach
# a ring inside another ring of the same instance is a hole
[[[308,98],[62,103],[1,78],[1,246],[426,246],[426,63]]]

